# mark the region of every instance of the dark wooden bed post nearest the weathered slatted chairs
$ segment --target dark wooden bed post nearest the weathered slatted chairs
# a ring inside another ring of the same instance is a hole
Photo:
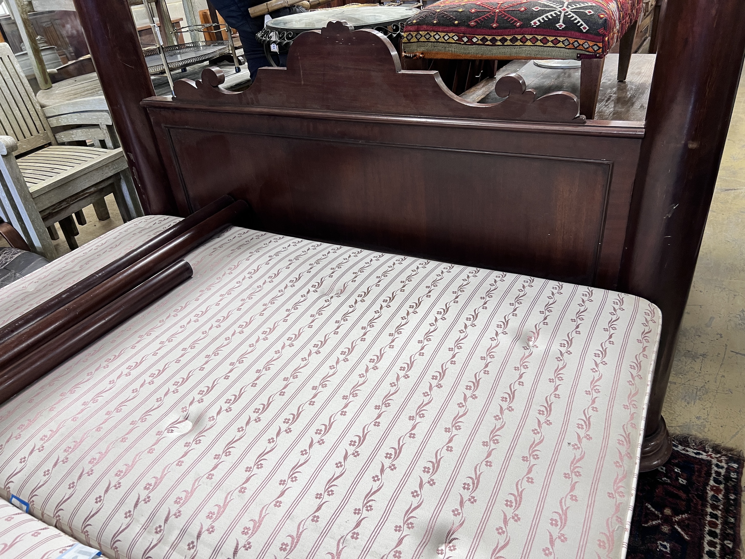
[[[176,215],[142,99],[155,95],[127,0],[74,0],[111,117],[148,214]]]

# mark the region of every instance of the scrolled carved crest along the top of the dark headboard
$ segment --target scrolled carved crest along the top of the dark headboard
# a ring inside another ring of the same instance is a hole
[[[571,122],[584,124],[579,101],[571,93],[537,98],[513,82],[509,95],[495,104],[472,104],[454,95],[437,72],[402,70],[393,44],[370,29],[351,31],[331,22],[294,40],[287,68],[261,68],[244,92],[221,86],[223,72],[206,69],[201,80],[179,80],[175,100],[209,101],[241,107],[292,107],[307,110],[360,110],[384,114],[419,114],[470,119]],[[341,79],[343,76],[343,79]],[[375,90],[364,107],[358,92]],[[330,92],[333,91],[333,94]],[[425,100],[425,102],[422,102]]]

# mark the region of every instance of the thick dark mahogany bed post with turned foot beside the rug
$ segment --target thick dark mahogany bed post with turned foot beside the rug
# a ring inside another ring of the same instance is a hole
[[[745,10],[741,0],[678,0],[659,33],[619,285],[662,310],[642,471],[672,451],[662,404],[738,90]]]

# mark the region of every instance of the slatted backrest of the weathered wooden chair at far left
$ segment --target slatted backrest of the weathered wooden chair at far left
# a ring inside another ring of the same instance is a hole
[[[0,135],[18,142],[16,156],[57,144],[44,111],[7,42],[0,42]]]

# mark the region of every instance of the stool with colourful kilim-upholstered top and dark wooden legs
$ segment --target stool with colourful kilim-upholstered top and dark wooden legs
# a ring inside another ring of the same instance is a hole
[[[621,40],[626,80],[642,0],[440,0],[406,22],[403,48],[425,58],[581,60],[580,113],[595,116],[606,54]]]

